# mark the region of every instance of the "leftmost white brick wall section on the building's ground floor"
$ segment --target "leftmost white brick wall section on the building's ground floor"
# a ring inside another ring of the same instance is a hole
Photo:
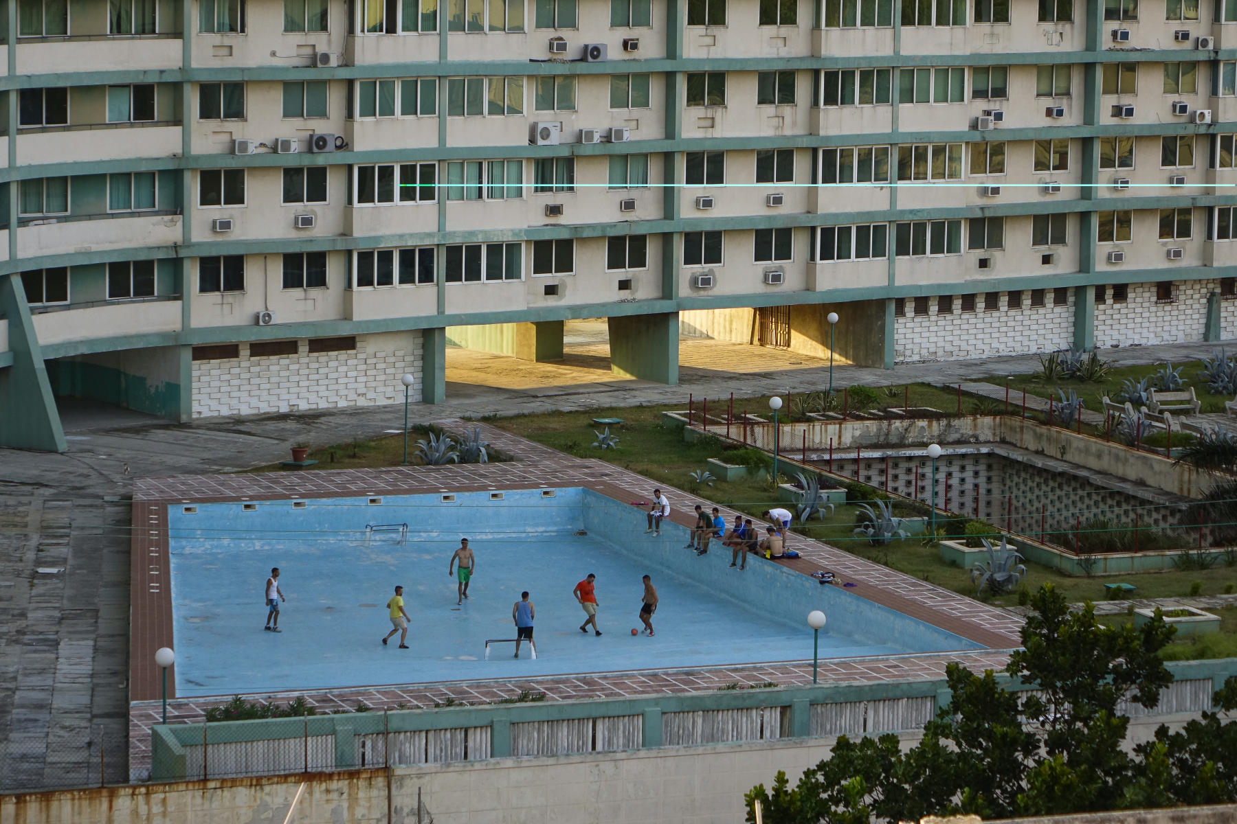
[[[309,355],[307,341],[296,356],[251,358],[247,343],[240,348],[239,359],[193,363],[194,418],[402,403],[404,373],[417,379],[409,395],[421,397],[416,332],[357,336],[351,352]]]

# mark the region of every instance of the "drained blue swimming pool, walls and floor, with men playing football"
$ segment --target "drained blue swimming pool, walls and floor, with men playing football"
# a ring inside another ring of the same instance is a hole
[[[678,502],[675,502],[678,503]],[[778,565],[730,568],[688,530],[644,534],[642,508],[583,488],[169,505],[176,694],[221,696],[476,678],[810,658],[805,616],[821,609],[821,658],[982,649],[943,629]],[[407,525],[403,536],[402,525]],[[367,526],[393,525],[390,531]],[[469,598],[448,576],[459,539],[476,555]],[[263,630],[280,567],[282,633]],[[595,636],[571,591],[595,573]],[[652,576],[656,636],[632,636]],[[380,640],[402,586],[408,650]],[[512,657],[512,604],[536,604],[536,660]]]

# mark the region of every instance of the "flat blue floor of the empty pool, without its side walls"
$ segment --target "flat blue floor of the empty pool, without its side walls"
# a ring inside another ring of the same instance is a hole
[[[473,535],[477,557],[470,598],[456,605],[447,568],[458,546],[417,540],[262,540],[172,551],[177,654],[176,694],[324,689],[474,678],[516,678],[581,672],[736,665],[811,656],[805,626],[768,618],[667,572],[641,566],[609,544],[571,532],[487,540]],[[714,552],[719,552],[715,549]],[[690,550],[683,550],[690,556]],[[729,552],[727,552],[729,555]],[[752,558],[755,560],[755,558]],[[704,561],[704,560],[701,560]],[[262,629],[263,584],[281,568],[280,634]],[[690,568],[690,567],[688,567]],[[571,597],[596,573],[601,637],[578,629],[585,615]],[[730,571],[735,576],[742,573]],[[654,637],[631,635],[648,573],[661,595]],[[380,639],[391,630],[385,604],[404,587],[412,618],[409,650]],[[528,589],[537,607],[538,658],[513,645],[511,607]],[[905,652],[823,634],[821,657]]]

